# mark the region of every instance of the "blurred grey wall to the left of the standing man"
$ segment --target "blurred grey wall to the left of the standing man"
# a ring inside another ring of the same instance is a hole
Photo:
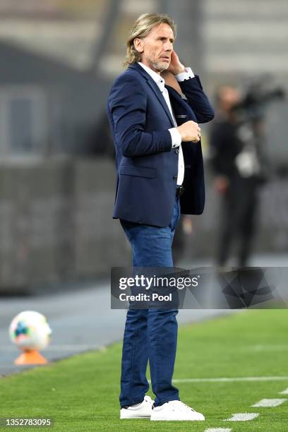
[[[0,293],[77,280],[127,265],[112,219],[114,164],[48,160],[0,167]]]

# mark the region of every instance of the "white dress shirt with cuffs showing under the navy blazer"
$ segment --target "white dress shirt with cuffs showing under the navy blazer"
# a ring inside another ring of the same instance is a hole
[[[165,81],[164,78],[162,78],[162,76],[160,76],[158,73],[156,73],[155,71],[152,71],[152,69],[148,68],[148,66],[145,66],[145,64],[141,63],[140,61],[138,62],[140,64],[140,66],[143,67],[143,69],[149,73],[150,77],[155,80],[155,83],[158,85],[158,87],[160,88],[160,92],[162,92],[162,95],[164,97],[165,102],[167,103],[167,106],[169,108],[169,112],[172,116],[173,119],[173,123],[174,123],[174,128],[170,128],[168,129],[168,131],[171,134],[171,138],[172,138],[172,148],[176,148],[179,147],[179,159],[178,159],[178,175],[177,175],[177,186],[181,186],[181,184],[184,181],[184,157],[183,157],[183,151],[182,151],[182,147],[181,147],[181,135],[180,132],[178,131],[177,124],[176,124],[176,120],[175,120],[175,116],[172,110],[172,106],[169,100],[169,93],[167,88],[165,88]],[[193,78],[194,74],[191,71],[191,68],[185,68],[185,72],[181,72],[178,75],[175,76],[176,80],[181,82],[184,80],[187,80],[189,78]]]

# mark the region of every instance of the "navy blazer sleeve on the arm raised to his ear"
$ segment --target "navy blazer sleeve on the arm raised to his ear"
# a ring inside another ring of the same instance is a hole
[[[179,85],[187,97],[187,102],[193,109],[198,123],[207,123],[214,119],[214,110],[210,105],[208,97],[203,92],[200,78],[197,75],[194,78],[180,81]]]

